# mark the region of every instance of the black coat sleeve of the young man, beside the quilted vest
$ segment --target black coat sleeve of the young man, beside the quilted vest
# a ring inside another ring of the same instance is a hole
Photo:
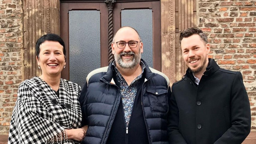
[[[173,88],[173,87],[172,87]],[[172,89],[173,90],[173,89]],[[171,105],[168,116],[168,137],[169,144],[187,144],[179,131],[179,109],[174,93],[171,94]]]

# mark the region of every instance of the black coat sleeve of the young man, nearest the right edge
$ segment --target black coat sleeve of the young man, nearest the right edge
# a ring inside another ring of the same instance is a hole
[[[232,84],[230,118],[231,127],[214,144],[241,144],[250,133],[250,103],[240,72]]]

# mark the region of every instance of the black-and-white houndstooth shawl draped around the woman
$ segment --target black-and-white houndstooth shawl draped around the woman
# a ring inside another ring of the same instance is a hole
[[[12,114],[8,144],[80,144],[67,140],[65,131],[81,126],[80,92],[78,84],[65,79],[60,79],[59,97],[39,77],[23,81]],[[57,104],[51,102],[53,99]]]

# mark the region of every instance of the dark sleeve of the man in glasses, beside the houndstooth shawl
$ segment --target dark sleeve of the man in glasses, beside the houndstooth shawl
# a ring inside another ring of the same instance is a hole
[[[81,95],[79,97],[79,102],[80,102],[80,107],[81,107],[81,111],[82,111],[82,127],[84,125],[88,125],[87,123],[87,114],[86,114],[86,105],[85,105],[85,95],[87,92],[87,81],[85,82],[85,85],[83,86],[83,90],[81,91]]]

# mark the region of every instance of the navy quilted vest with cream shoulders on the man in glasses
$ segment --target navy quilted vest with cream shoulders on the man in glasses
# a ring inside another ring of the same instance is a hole
[[[90,72],[86,78],[87,83],[81,92],[80,104],[83,125],[88,125],[88,130],[82,144],[107,142],[121,100],[113,79],[112,63],[108,67]],[[149,143],[168,144],[167,118],[171,96],[169,80],[163,73],[149,68],[146,63],[145,65],[142,106]]]

